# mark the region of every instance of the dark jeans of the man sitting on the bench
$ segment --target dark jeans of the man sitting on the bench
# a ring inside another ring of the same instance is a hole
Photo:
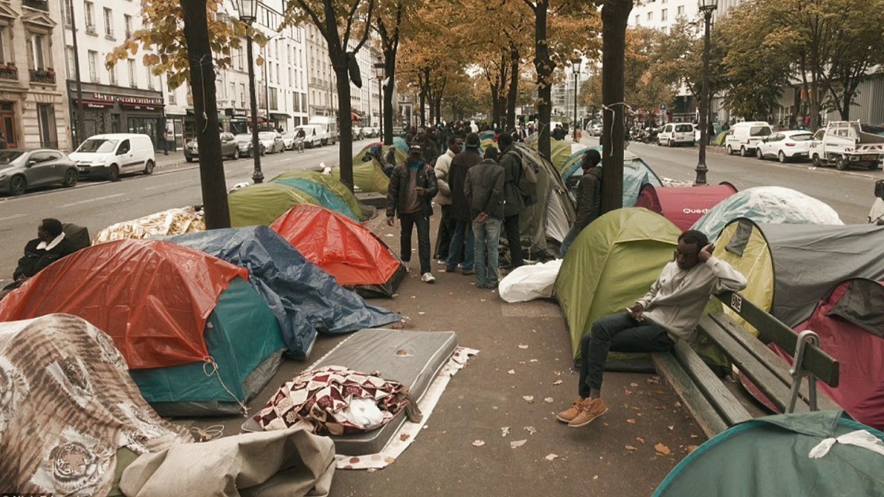
[[[580,339],[580,396],[589,397],[591,388],[601,390],[608,351],[667,352],[674,345],[666,328],[649,321],[638,322],[626,311],[598,319],[591,333]]]

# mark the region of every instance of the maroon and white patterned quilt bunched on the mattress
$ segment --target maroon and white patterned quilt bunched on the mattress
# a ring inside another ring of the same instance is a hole
[[[420,419],[417,403],[402,384],[344,366],[324,366],[280,386],[255,421],[265,431],[296,427],[319,435],[364,432],[347,413],[354,399],[369,399],[380,409],[383,419],[371,429],[389,423],[401,409],[408,408],[409,418]]]

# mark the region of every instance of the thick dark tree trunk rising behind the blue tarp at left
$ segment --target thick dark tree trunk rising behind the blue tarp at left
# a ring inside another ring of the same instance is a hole
[[[200,184],[206,227],[229,228],[224,161],[215,99],[215,66],[209,45],[206,0],[180,0],[184,18],[187,57],[190,59],[190,91],[194,96],[196,142],[200,148]],[[206,116],[206,119],[202,119]]]

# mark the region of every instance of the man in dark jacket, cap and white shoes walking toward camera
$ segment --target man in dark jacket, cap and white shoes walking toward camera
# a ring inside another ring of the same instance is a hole
[[[430,266],[430,217],[433,215],[432,198],[438,192],[436,172],[423,162],[422,150],[417,145],[408,149],[408,160],[397,165],[390,176],[387,188],[387,225],[393,226],[399,213],[401,230],[400,248],[402,262],[411,261],[411,232],[417,226],[417,255],[421,261],[421,281],[436,281]]]

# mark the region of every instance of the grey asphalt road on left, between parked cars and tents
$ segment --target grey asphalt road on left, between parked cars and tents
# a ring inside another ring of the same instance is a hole
[[[373,140],[354,142],[354,151]],[[286,171],[338,164],[338,146],[286,151],[262,157],[267,180]],[[251,158],[225,161],[227,187],[251,182]],[[86,226],[90,236],[114,223],[160,210],[202,203],[199,165],[157,166],[151,176],[124,176],[118,183],[83,180],[73,188],[49,187],[19,197],[0,195],[0,287],[11,279],[25,243],[37,236],[43,218],[59,218]]]

